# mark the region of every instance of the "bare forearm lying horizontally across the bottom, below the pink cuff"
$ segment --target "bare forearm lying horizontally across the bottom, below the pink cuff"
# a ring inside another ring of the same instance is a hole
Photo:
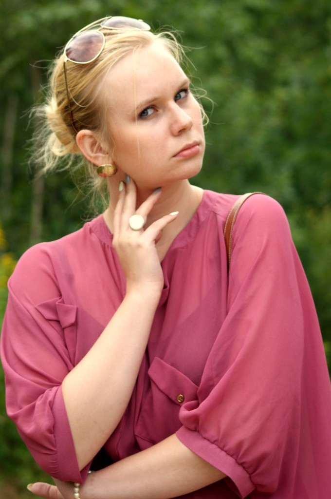
[[[225,475],[175,435],[89,476],[81,496],[91,499],[168,499],[217,482]]]

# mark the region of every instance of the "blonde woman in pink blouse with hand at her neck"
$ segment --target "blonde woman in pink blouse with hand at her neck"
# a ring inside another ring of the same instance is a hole
[[[110,17],[55,61],[45,169],[81,154],[110,203],[28,250],[9,282],[7,410],[57,485],[29,488],[329,499],[329,376],[286,217],[267,196],[247,200],[228,272],[237,197],[188,181],[205,141],[179,56],[171,35]],[[112,464],[97,463],[102,450]]]

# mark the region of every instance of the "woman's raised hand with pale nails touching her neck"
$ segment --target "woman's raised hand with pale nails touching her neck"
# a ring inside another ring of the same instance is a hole
[[[126,277],[127,291],[135,288],[144,292],[151,289],[161,293],[164,276],[156,243],[165,226],[175,219],[176,213],[165,215],[146,229],[134,231],[129,226],[130,217],[140,215],[146,224],[152,208],[161,196],[161,190],[156,190],[136,210],[137,190],[134,181],[130,180],[121,187],[123,189],[114,211],[113,246]]]

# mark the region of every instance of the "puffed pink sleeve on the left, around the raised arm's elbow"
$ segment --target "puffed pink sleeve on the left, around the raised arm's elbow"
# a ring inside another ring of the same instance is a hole
[[[1,333],[6,408],[37,464],[62,481],[83,482],[61,384],[73,367],[65,329],[75,328],[42,245],[28,250],[8,283]]]

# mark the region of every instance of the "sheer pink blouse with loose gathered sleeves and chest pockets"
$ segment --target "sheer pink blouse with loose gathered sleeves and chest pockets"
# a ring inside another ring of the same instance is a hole
[[[311,292],[286,216],[204,191],[162,267],[165,287],[137,384],[105,444],[119,460],[176,433],[227,478],[185,498],[330,499],[331,388]],[[53,477],[84,481],[61,383],[123,300],[102,216],[26,251],[9,281],[1,356],[10,418]],[[184,496],[182,496],[184,497]]]

